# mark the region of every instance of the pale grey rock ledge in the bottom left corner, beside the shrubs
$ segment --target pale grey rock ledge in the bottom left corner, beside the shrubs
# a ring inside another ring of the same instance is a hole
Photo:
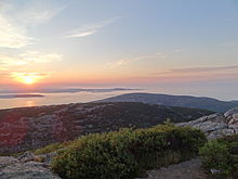
[[[61,179],[53,174],[48,165],[36,162],[32,153],[27,152],[18,158],[12,156],[0,156],[1,179]]]

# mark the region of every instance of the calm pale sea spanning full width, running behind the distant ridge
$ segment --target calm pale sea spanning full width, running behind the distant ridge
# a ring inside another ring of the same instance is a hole
[[[123,93],[132,92],[149,92],[149,93],[167,93],[167,94],[182,94],[182,95],[196,95],[196,97],[210,97],[217,98],[220,100],[237,100],[237,94],[225,93],[224,91],[203,91],[199,88],[188,88],[188,87],[155,87],[155,88],[141,88],[143,90],[123,90],[123,91],[111,91],[111,92],[77,92],[77,93],[37,93],[42,94],[44,98],[17,98],[17,99],[0,99],[0,110],[1,108],[12,108],[22,106],[39,106],[39,105],[52,105],[52,104],[68,104],[68,103],[83,103],[91,102],[95,100],[102,100]],[[0,93],[4,95],[4,93]],[[31,93],[34,94],[34,93]]]

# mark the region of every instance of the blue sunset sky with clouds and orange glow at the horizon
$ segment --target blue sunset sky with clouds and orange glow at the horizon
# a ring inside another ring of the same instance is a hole
[[[0,88],[238,100],[237,0],[0,0]]]

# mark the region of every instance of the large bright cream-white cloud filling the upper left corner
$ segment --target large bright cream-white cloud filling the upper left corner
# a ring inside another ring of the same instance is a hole
[[[35,40],[28,35],[30,26],[48,22],[64,9],[34,2],[24,9],[9,1],[0,2],[0,48],[18,49],[31,44]]]

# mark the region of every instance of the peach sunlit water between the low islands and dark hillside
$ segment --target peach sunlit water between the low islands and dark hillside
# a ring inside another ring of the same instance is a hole
[[[142,92],[142,91],[130,90],[130,91],[114,91],[114,92],[40,93],[45,97],[0,99],[0,110],[22,107],[22,106],[39,106],[39,105],[90,102],[90,101],[102,100],[105,98],[119,95],[123,93],[130,93],[130,92]]]

